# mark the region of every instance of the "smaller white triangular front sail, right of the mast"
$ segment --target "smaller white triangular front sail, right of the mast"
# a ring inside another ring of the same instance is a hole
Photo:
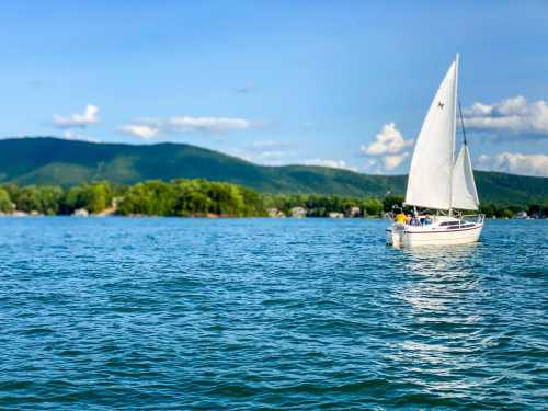
[[[460,209],[478,209],[479,199],[473,181],[470,155],[466,144],[460,148],[453,169],[452,207]]]

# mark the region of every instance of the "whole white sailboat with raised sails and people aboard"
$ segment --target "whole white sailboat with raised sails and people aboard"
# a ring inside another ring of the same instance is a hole
[[[401,218],[387,229],[395,247],[463,244],[478,241],[484,216],[463,215],[478,210],[479,199],[457,100],[458,54],[437,90],[416,139],[403,205],[413,217]],[[455,159],[457,109],[464,140]]]

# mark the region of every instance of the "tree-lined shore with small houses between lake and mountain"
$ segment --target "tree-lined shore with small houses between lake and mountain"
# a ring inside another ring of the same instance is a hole
[[[53,185],[0,185],[3,215],[119,215],[164,217],[380,217],[401,196],[346,197],[317,194],[263,194],[207,180],[159,180],[134,185],[95,182],[62,189]],[[512,218],[526,212],[548,216],[548,198],[533,204],[481,205],[487,217]]]

